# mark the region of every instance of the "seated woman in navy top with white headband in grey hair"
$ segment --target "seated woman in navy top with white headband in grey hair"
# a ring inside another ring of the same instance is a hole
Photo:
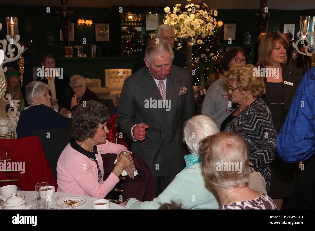
[[[31,136],[31,132],[37,129],[69,128],[70,119],[51,109],[49,85],[33,81],[26,85],[25,92],[30,106],[20,113],[16,127],[17,138]]]

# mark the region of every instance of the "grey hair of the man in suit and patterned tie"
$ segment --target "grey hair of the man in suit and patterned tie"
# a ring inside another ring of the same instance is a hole
[[[148,42],[146,45],[146,50],[144,52],[144,56],[146,58],[146,61],[149,63],[149,65],[152,63],[152,55],[158,54],[162,57],[162,53],[167,52],[171,54],[171,64],[174,59],[174,52],[172,50],[172,47],[169,45],[169,43],[162,38],[154,38],[151,41]]]

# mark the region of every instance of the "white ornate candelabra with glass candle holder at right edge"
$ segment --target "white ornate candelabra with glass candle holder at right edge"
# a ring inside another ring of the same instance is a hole
[[[296,41],[295,43],[292,43],[292,46],[295,48],[296,52],[299,52],[302,55],[307,55],[307,56],[311,56],[311,66],[315,66],[315,52],[310,53],[310,43],[307,42],[307,45],[303,44],[303,47],[305,47],[305,53],[301,52],[300,49],[298,49],[298,44],[300,43],[300,41],[306,40],[309,36],[312,35],[313,37],[313,44],[315,44],[315,32],[312,31],[311,33],[308,32],[308,21],[309,21],[309,16],[307,18],[307,16],[301,16],[301,22],[300,22],[300,32],[297,33],[297,36],[299,38],[298,41]],[[293,53],[293,57],[296,58],[296,52]]]

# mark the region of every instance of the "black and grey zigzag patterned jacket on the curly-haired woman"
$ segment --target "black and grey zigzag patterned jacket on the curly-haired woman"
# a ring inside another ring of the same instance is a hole
[[[224,131],[238,132],[244,136],[249,146],[249,161],[254,164],[253,169],[265,178],[266,190],[269,193],[269,164],[276,157],[278,134],[273,127],[271,112],[266,103],[257,98],[227,124]]]

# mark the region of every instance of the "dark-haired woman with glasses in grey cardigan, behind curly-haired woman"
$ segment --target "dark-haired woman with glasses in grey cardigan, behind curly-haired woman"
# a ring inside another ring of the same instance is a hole
[[[221,60],[225,70],[233,65],[248,63],[246,52],[241,47],[232,47]],[[222,121],[231,114],[236,105],[230,105],[231,98],[228,97],[228,88],[224,80],[220,78],[215,81],[207,90],[202,102],[201,114],[210,117],[220,129]]]

